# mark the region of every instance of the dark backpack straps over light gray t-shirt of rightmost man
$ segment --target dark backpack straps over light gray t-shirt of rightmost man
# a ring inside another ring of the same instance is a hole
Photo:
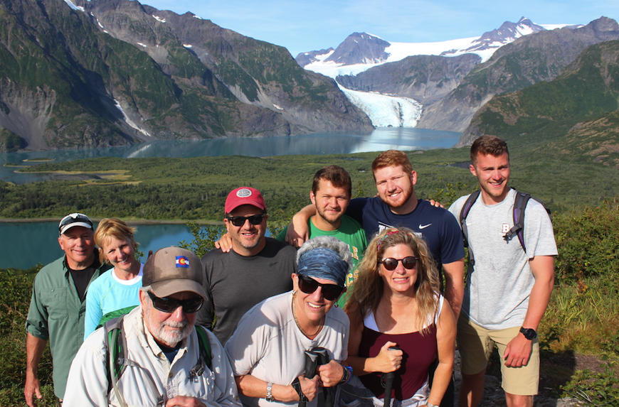
[[[512,188],[512,190],[516,191],[516,197],[514,199],[514,210],[512,212],[514,226],[512,227],[512,229],[509,229],[509,231],[503,236],[503,239],[509,242],[509,240],[512,240],[514,235],[516,235],[520,242],[520,246],[522,246],[522,250],[524,250],[524,253],[527,253],[527,246],[524,244],[524,209],[527,207],[527,202],[529,202],[529,200],[532,198],[544,207],[549,216],[551,215],[551,213],[548,207],[546,207],[546,204],[544,204],[544,202],[537,199],[536,197],[531,197],[530,194],[527,194],[526,192],[520,192],[519,190],[516,190],[516,188]],[[481,190],[476,190],[475,192],[472,192],[472,194],[467,198],[465,204],[462,205],[462,210],[460,210],[460,227],[462,229],[462,238],[464,240],[465,247],[469,247],[466,218],[469,215],[471,207],[473,206],[475,201],[477,201],[477,197],[480,196],[480,192]],[[473,252],[470,248],[469,265],[475,265]]]

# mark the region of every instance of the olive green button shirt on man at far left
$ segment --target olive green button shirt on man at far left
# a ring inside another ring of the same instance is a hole
[[[97,258],[98,253],[95,253],[95,264],[92,265],[95,273],[90,283],[100,275],[102,268],[109,268],[100,266]],[[49,340],[54,393],[60,399],[65,394],[73,357],[84,340],[85,315],[86,300],[80,301],[65,256],[41,268],[34,279],[26,332],[42,340]]]

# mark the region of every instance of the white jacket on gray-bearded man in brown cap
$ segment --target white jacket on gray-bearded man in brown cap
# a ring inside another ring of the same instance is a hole
[[[226,351],[211,332],[206,331],[211,342],[213,369],[211,371],[206,367],[201,376],[189,379],[189,372],[200,357],[195,329],[183,341],[170,364],[150,332],[144,329],[141,307],[127,314],[123,324],[127,359],[137,364],[127,366],[117,383],[128,406],[165,406],[166,401],[175,396],[196,397],[209,407],[241,406]],[[120,406],[115,391],[108,391],[108,356],[104,335],[103,328],[92,333],[75,355],[69,371],[64,407]],[[152,382],[159,394],[154,394]],[[163,404],[158,400],[160,396],[163,397]]]

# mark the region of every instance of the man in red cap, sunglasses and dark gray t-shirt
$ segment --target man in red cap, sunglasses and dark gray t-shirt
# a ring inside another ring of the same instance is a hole
[[[227,253],[214,249],[202,257],[208,301],[198,322],[213,330],[222,344],[250,308],[292,290],[290,274],[297,271],[297,252],[286,242],[265,237],[267,218],[260,191],[236,188],[226,198],[223,219],[232,249]]]

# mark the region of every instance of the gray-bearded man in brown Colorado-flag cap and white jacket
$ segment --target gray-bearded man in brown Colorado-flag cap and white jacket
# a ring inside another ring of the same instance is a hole
[[[189,250],[166,247],[150,256],[139,307],[85,340],[71,364],[64,405],[240,407],[226,351],[194,326],[206,299],[202,280],[200,259]],[[110,359],[122,366],[113,376]]]

